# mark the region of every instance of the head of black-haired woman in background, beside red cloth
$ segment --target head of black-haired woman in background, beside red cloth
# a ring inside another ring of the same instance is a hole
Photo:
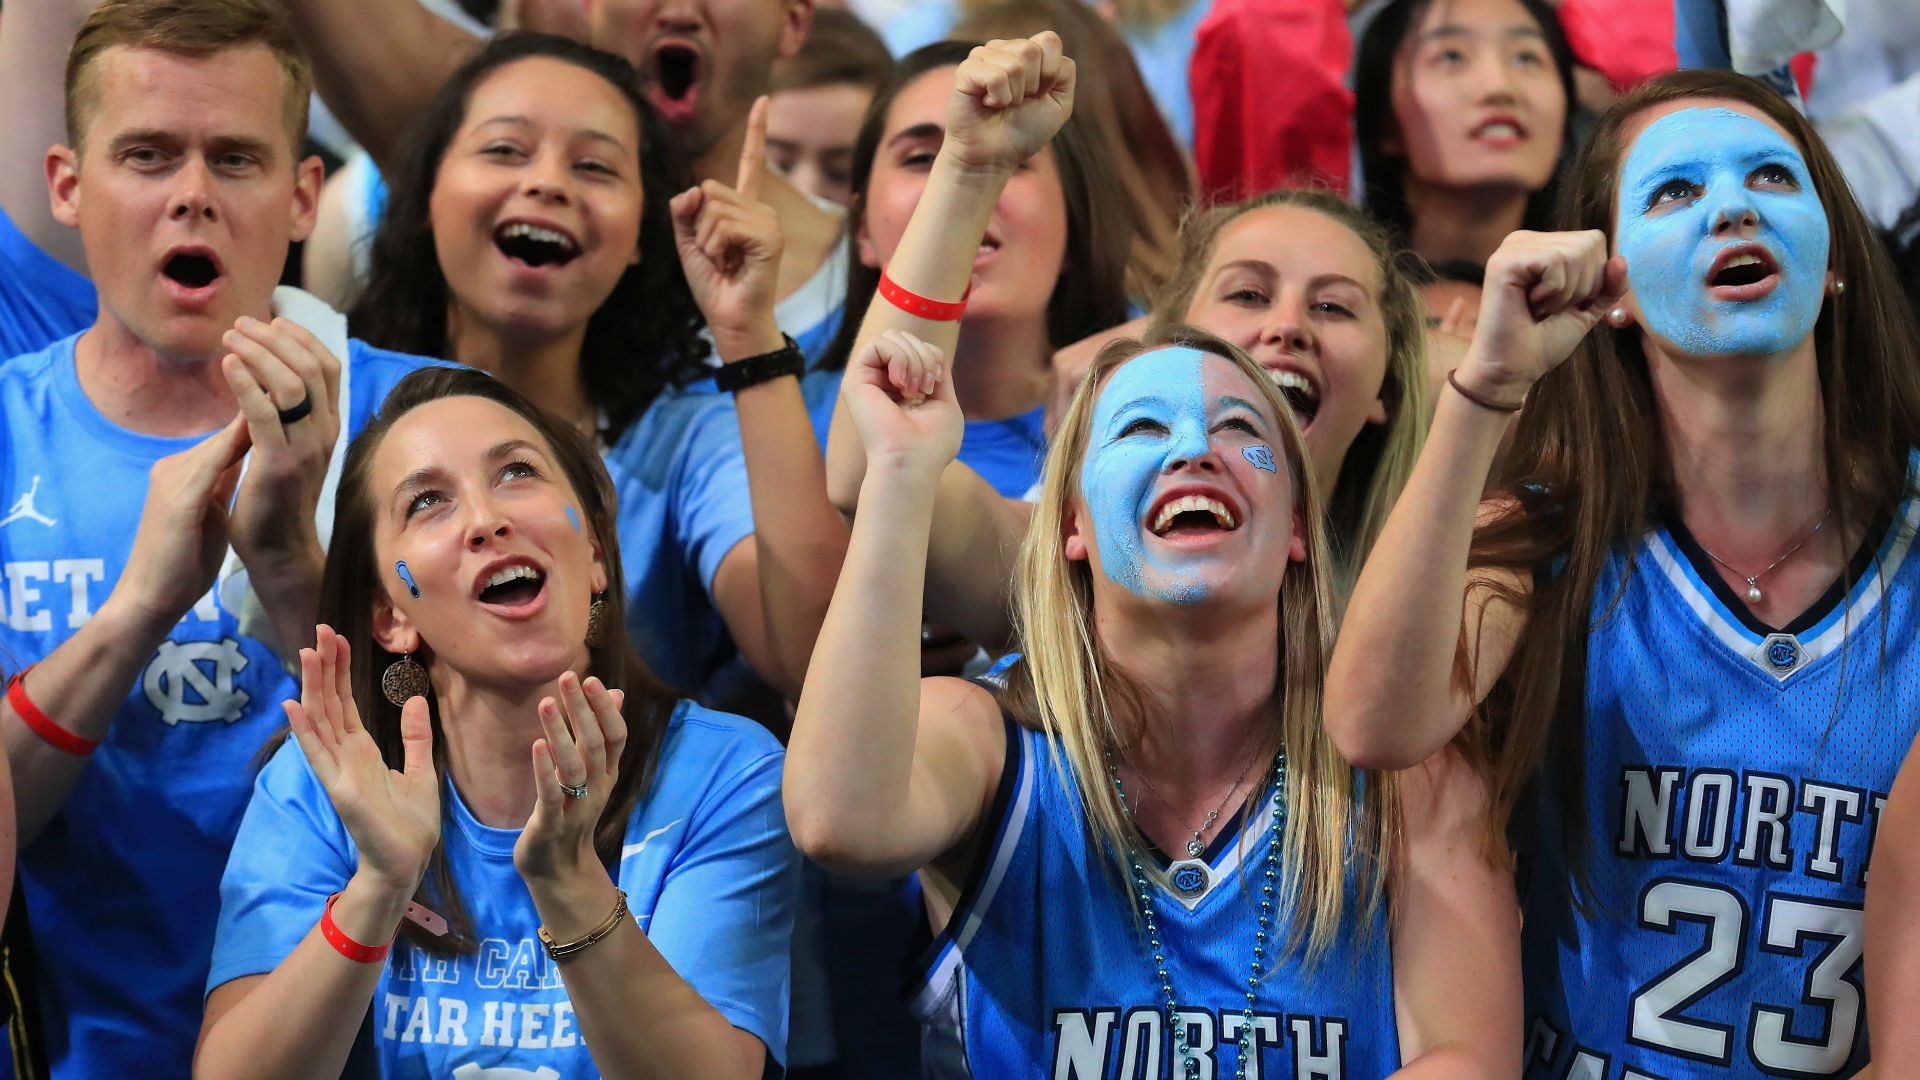
[[[1546,0],[1392,0],[1354,58],[1365,206],[1428,261],[1546,229],[1574,140],[1574,58]]]

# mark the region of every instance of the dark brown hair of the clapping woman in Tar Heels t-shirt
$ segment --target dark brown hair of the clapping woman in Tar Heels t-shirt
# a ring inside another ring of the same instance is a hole
[[[380,692],[380,675],[401,657],[380,648],[372,634],[374,601],[386,594],[384,582],[392,577],[380,573],[380,557],[374,553],[374,517],[378,511],[372,494],[372,459],[399,417],[444,398],[486,398],[534,425],[534,430],[553,448],[553,457],[580,500],[580,515],[607,565],[607,592],[601,596],[607,603],[607,632],[601,644],[588,650],[589,667],[582,676],[595,675],[609,688],[626,692],[622,713],[630,734],[626,749],[620,753],[620,778],[614,780],[612,796],[593,830],[593,851],[601,863],[612,867],[620,859],[626,819],[653,780],[653,767],[676,698],[647,671],[626,638],[626,584],[620,577],[620,538],[614,532],[612,480],[584,434],[540,411],[499,379],[472,367],[422,367],[401,379],[386,396],[380,413],[348,446],[340,492],[334,500],[334,534],[326,550],[326,573],[321,578],[321,623],[338,630],[351,646],[353,703],[359,705],[361,721],[374,744],[380,746],[388,767],[399,769],[405,761],[399,740],[399,705],[388,701],[386,694]],[[582,632],[586,632],[584,626]],[[430,644],[420,642],[420,646],[428,650]],[[426,692],[426,705],[434,723],[434,769],[442,776],[442,805],[447,805],[447,740],[442,732],[440,701],[432,690]],[[445,830],[442,830],[444,834]],[[445,938],[432,938],[411,922],[403,922],[403,930],[419,947],[426,951],[474,951],[472,920],[467,917],[467,907],[455,888],[445,844],[434,847],[426,880],[420,882],[415,899],[445,915],[451,926]]]

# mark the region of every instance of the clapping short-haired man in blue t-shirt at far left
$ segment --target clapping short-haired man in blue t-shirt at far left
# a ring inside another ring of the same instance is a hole
[[[321,184],[307,86],[276,0],[108,0],[67,58],[42,198],[98,315],[0,363],[0,655],[33,665],[0,740],[63,1080],[190,1074],[221,871],[298,694],[242,619],[311,640],[340,434],[422,363],[275,288]]]

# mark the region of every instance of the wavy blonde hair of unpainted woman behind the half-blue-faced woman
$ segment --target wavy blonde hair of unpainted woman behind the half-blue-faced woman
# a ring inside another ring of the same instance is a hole
[[[1367,552],[1386,527],[1386,515],[1407,486],[1413,463],[1427,442],[1432,419],[1432,384],[1427,375],[1427,307],[1413,279],[1402,269],[1404,256],[1388,231],[1340,196],[1317,188],[1283,188],[1250,200],[1196,209],[1181,221],[1181,248],[1173,275],[1154,306],[1164,323],[1185,323],[1206,267],[1213,261],[1221,233],[1261,209],[1294,206],[1344,225],[1373,254],[1380,277],[1380,319],[1386,323],[1386,379],[1380,402],[1384,425],[1367,425],[1340,461],[1334,490],[1327,492],[1327,519],[1334,546],[1336,596],[1352,592]]]

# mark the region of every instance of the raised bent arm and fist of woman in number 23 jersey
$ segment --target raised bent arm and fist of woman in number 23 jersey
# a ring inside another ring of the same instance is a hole
[[[1505,671],[1523,615],[1490,603],[1494,578],[1469,578],[1467,550],[1486,473],[1534,380],[1626,286],[1626,261],[1607,259],[1590,233],[1513,233],[1486,265],[1480,323],[1459,390],[1440,394],[1421,459],[1359,573],[1327,673],[1327,730],[1363,769],[1407,769],[1448,744]],[[1476,402],[1478,400],[1478,402]],[[1501,584],[1524,590],[1526,582]],[[1476,671],[1455,678],[1461,628]]]

